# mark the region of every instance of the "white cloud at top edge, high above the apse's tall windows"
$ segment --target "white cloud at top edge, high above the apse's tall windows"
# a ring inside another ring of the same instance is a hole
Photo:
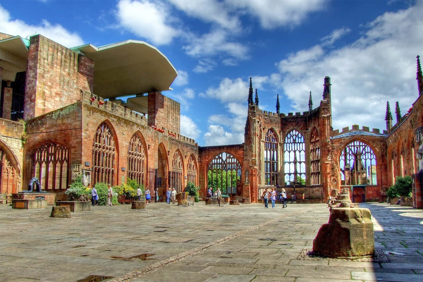
[[[226,2],[257,17],[261,26],[266,29],[299,25],[308,14],[324,8],[324,0],[226,0]]]

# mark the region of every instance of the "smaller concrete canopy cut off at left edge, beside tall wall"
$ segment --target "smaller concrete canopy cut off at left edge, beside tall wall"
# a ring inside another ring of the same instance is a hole
[[[15,81],[16,73],[26,71],[28,47],[20,36],[0,40],[1,79]]]

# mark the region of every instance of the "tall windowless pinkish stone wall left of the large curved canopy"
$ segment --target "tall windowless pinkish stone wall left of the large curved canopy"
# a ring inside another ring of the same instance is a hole
[[[57,110],[93,90],[92,60],[41,35],[30,37],[24,119]]]

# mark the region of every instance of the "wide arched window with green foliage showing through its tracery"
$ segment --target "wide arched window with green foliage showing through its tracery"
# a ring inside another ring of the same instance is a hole
[[[237,182],[241,180],[241,164],[230,153],[220,153],[209,163],[207,188],[220,188],[222,194],[236,194]]]

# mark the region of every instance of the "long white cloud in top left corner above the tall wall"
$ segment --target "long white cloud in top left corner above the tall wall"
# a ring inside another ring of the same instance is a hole
[[[35,33],[41,34],[68,48],[84,44],[84,41],[77,33],[70,32],[59,24],[52,24],[42,19],[38,25],[28,25],[20,19],[13,19],[10,13],[2,6],[0,6],[0,30],[2,33],[22,37]]]

